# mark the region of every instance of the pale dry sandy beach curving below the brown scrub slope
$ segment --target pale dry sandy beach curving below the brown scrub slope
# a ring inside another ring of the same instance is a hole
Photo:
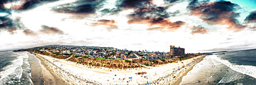
[[[149,68],[109,69],[95,68],[65,59],[35,54],[51,74],[65,84],[180,84],[181,79],[205,55]],[[147,72],[138,75],[138,72]]]

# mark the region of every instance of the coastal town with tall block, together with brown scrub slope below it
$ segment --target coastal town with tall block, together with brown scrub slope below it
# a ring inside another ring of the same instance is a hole
[[[125,62],[138,63],[145,66],[156,66],[157,64],[167,64],[175,62],[177,59],[187,59],[203,55],[200,53],[185,54],[185,48],[170,46],[170,52],[164,53],[159,51],[149,52],[148,50],[127,50],[118,49],[113,47],[99,47],[99,46],[66,46],[66,45],[48,45],[39,46],[35,48],[23,49],[33,53],[42,55],[50,55],[60,59],[71,60],[80,64],[86,64],[86,61],[79,61],[81,59],[94,58],[94,59],[113,59],[125,60]],[[16,50],[20,51],[20,50]],[[73,56],[72,56],[73,55]],[[74,60],[76,59],[76,60]],[[98,66],[98,65],[95,65]],[[140,66],[136,66],[140,67]],[[128,68],[128,66],[127,66]]]

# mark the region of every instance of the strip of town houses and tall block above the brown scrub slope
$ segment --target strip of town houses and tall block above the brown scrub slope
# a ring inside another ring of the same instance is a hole
[[[24,49],[22,49],[24,50]],[[35,48],[28,48],[26,50],[34,50],[39,52],[54,53],[56,55],[78,55],[86,57],[98,57],[104,59],[164,59],[173,57],[189,57],[194,55],[202,55],[200,53],[185,54],[185,48],[176,48],[170,46],[170,52],[164,53],[159,51],[149,52],[148,50],[127,50],[113,47],[99,47],[99,46],[65,46],[65,45],[48,45],[39,46]]]

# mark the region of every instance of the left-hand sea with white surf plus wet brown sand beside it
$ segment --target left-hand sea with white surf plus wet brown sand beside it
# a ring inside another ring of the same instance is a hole
[[[44,84],[42,70],[37,70],[40,69],[39,63],[39,59],[28,52],[1,51],[0,85]],[[31,73],[31,67],[33,73]]]

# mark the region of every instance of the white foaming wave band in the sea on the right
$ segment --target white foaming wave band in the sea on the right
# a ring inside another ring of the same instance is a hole
[[[250,77],[256,78],[256,66],[231,64],[230,62],[228,62],[228,60],[221,59],[220,57],[217,57],[217,55],[208,55],[208,56],[211,57],[211,59],[215,59],[218,62],[221,62],[222,64],[228,66],[232,70],[237,71],[238,73],[242,73],[245,75],[249,75]]]

